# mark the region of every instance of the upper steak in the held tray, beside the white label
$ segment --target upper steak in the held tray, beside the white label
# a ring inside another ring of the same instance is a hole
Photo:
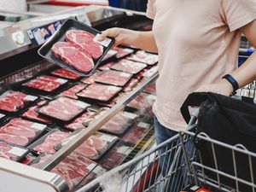
[[[67,42],[78,45],[84,52],[90,54],[94,59],[99,58],[103,54],[103,47],[93,41],[95,35],[82,30],[69,30],[66,33]]]

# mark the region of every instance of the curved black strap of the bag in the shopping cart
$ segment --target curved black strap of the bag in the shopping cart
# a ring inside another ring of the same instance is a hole
[[[196,106],[200,107],[202,102],[205,102],[207,99],[210,101],[214,101],[211,93],[207,92],[194,92],[189,94],[189,96],[186,98],[185,102],[183,102],[182,107],[180,108],[180,112],[183,115],[183,119],[186,121],[187,124],[189,124],[189,120],[191,119],[190,113],[189,113],[189,107]]]

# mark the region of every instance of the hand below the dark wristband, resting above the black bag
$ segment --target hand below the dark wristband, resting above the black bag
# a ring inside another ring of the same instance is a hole
[[[221,79],[215,84],[202,85],[198,90],[195,90],[195,92],[213,92],[224,96],[230,96],[232,95],[233,87],[226,79]]]

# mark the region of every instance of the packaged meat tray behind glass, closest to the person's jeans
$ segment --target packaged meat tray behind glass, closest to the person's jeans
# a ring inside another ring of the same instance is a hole
[[[140,143],[145,137],[150,129],[151,125],[143,122],[139,122],[137,125],[127,131],[123,137],[120,138],[120,141],[131,145],[136,146],[137,143]]]

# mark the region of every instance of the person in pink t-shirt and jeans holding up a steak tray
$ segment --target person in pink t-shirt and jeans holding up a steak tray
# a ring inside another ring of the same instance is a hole
[[[185,129],[179,108],[189,93],[230,96],[256,79],[256,53],[242,67],[236,64],[241,32],[256,47],[256,1],[148,0],[147,16],[152,32],[111,28],[99,40],[109,36],[159,54],[153,110],[156,142],[162,143]]]

